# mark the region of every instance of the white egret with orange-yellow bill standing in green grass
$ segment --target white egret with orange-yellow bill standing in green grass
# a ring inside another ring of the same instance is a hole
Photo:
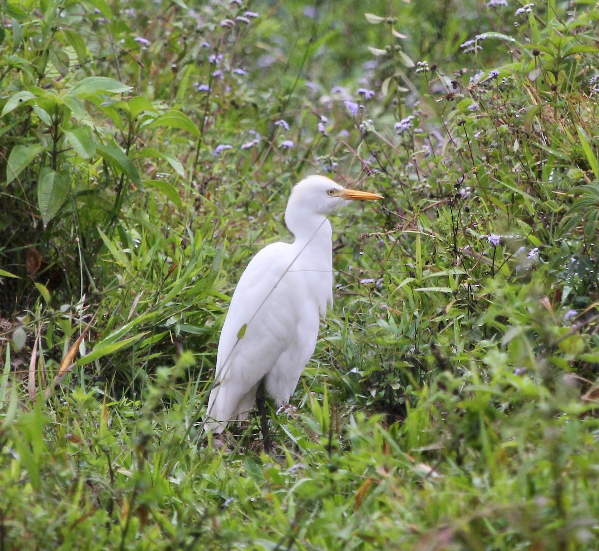
[[[285,223],[293,243],[273,243],[252,258],[235,288],[220,333],[208,428],[222,433],[258,401],[270,447],[264,392],[289,403],[316,348],[320,316],[332,304],[332,229],[327,214],[352,199],[382,196],[308,176],[289,197]]]

